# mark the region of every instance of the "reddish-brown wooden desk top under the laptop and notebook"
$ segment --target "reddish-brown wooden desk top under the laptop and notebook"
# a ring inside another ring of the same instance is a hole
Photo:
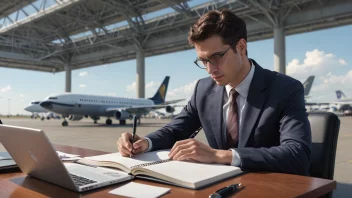
[[[79,154],[81,156],[93,156],[106,152],[89,149],[55,145],[58,151]],[[208,197],[209,194],[224,186],[233,183],[242,183],[241,191],[234,197],[319,197],[336,188],[336,181],[303,177],[279,173],[247,173],[221,183],[205,187],[201,190],[189,190],[185,188],[135,179],[134,182],[171,188],[170,193],[163,197]],[[116,184],[96,190],[76,193],[62,187],[24,175],[20,171],[0,173],[0,197],[112,197],[108,191],[123,184]]]

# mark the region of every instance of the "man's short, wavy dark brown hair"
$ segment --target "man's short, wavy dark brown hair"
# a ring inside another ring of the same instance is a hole
[[[247,41],[246,23],[231,11],[213,10],[201,16],[188,32],[188,43],[194,45],[214,35],[222,38],[224,44],[232,45],[240,39]],[[236,52],[236,48],[234,47]]]

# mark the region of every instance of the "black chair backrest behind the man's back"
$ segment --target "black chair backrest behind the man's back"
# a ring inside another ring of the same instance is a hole
[[[333,179],[340,119],[330,112],[309,113],[308,119],[312,130],[310,176]]]

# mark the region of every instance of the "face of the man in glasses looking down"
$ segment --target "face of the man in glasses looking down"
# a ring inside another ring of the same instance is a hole
[[[204,41],[196,42],[194,43],[194,46],[198,59],[200,60],[212,60],[211,57],[214,54],[222,54],[230,47],[228,44],[223,44],[223,41],[219,36],[212,36]],[[236,44],[233,45],[233,48],[235,47]],[[235,51],[230,48],[222,57],[221,62],[222,63],[217,66],[214,66],[210,62],[206,62],[205,66],[207,72],[219,86],[236,83],[243,70],[241,55],[235,53]]]

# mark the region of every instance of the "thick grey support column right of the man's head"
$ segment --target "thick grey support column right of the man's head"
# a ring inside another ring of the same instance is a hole
[[[274,69],[286,73],[285,31],[283,25],[274,27]]]

